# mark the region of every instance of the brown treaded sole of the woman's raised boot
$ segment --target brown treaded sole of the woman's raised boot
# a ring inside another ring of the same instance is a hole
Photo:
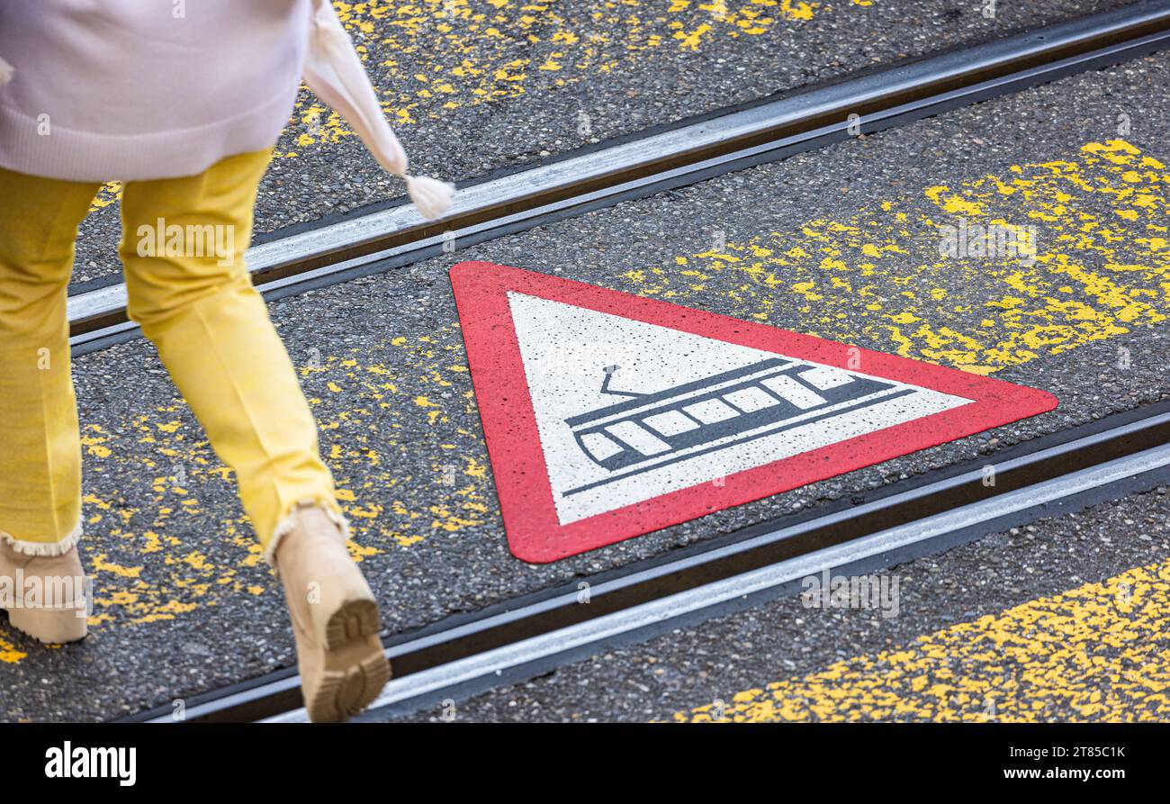
[[[379,628],[373,600],[350,600],[329,618],[324,671],[316,689],[311,694],[305,690],[305,708],[312,722],[345,721],[377,700],[391,676]]]

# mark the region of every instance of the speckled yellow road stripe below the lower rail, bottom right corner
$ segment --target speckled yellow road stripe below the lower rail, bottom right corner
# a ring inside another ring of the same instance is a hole
[[[1170,717],[1170,562],[1031,600],[680,722]]]

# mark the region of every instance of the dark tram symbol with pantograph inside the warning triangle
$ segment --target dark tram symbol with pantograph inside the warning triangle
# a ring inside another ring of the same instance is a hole
[[[914,393],[779,357],[647,394],[610,390],[617,370],[606,366],[601,390],[631,399],[564,420],[581,452],[611,479],[565,494]]]

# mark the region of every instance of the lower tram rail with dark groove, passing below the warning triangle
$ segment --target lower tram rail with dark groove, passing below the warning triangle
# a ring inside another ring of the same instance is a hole
[[[1161,403],[839,500],[803,518],[785,516],[453,616],[387,641],[395,679],[379,706],[410,712],[469,695],[531,678],[599,645],[645,639],[729,606],[757,605],[813,571],[869,571],[1073,506],[1144,490],[1170,479],[1168,444],[1170,403]],[[994,468],[991,486],[987,466]],[[195,696],[185,719],[296,720],[300,707],[298,679],[289,669]],[[125,720],[168,722],[172,715],[163,707]]]

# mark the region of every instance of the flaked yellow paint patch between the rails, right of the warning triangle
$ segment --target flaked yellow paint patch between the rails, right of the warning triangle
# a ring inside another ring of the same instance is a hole
[[[1165,321],[1168,181],[1131,144],[1090,143],[1066,160],[927,188],[937,212],[913,198],[881,201],[848,220],[687,255],[684,273],[639,268],[625,279],[686,304],[704,295],[695,276],[722,275],[731,315],[766,322],[794,310],[811,335],[987,374]],[[1102,198],[1108,217],[1090,206]],[[940,226],[957,215],[1016,231],[1042,221],[1024,254],[1033,260],[941,256]]]

